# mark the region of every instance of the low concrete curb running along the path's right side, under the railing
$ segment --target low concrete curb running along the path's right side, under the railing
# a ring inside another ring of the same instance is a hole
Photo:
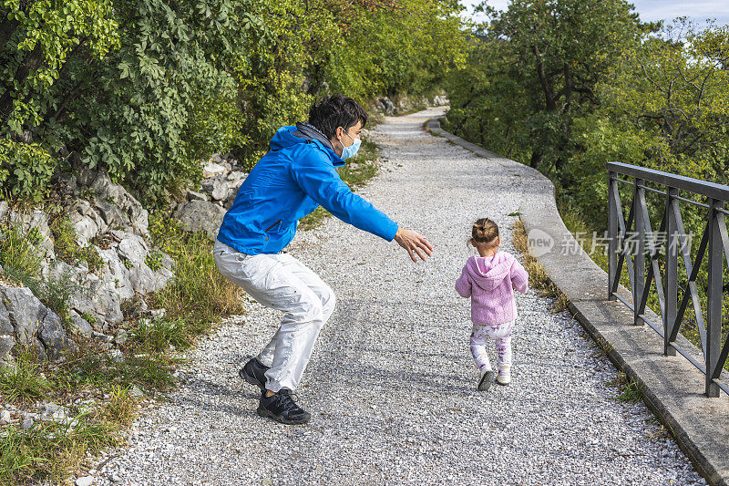
[[[573,251],[567,254],[556,247],[538,247],[534,253],[552,282],[567,295],[571,313],[606,349],[615,366],[642,386],[646,405],[671,430],[696,470],[711,484],[729,485],[729,399],[724,395],[706,398],[701,371],[681,356],[664,357],[661,336],[649,326],[633,326],[631,310],[607,300],[608,275],[581,250],[565,227],[551,181],[539,171],[448,133],[437,119],[429,120],[426,129],[488,162],[519,171],[528,187],[519,212],[530,243],[537,235],[545,241],[567,243]],[[627,292],[626,296],[630,298]],[[649,313],[649,317],[661,322],[657,315]],[[683,336],[679,341],[684,349],[702,357]]]

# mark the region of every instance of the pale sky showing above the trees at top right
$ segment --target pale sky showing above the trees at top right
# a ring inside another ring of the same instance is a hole
[[[481,0],[461,0],[461,3],[472,13],[473,6]],[[716,19],[717,25],[729,24],[729,0],[634,0],[631,4],[643,22],[687,16],[699,24],[704,24],[707,18]],[[508,0],[488,0],[488,5],[503,10]]]

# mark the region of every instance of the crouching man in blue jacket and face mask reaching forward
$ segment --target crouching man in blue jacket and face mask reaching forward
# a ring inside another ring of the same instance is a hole
[[[332,289],[282,251],[298,220],[321,204],[344,222],[395,240],[414,262],[416,255],[425,260],[433,251],[426,238],[400,228],[354,194],[335,170],[359,149],[366,122],[367,113],[354,99],[335,95],[313,104],[308,123],[279,129],[271,150],[241,185],[213,247],[221,274],[262,305],[285,313],[271,341],[239,372],[261,388],[259,415],[284,424],[311,419],[291,392],[334,311]]]

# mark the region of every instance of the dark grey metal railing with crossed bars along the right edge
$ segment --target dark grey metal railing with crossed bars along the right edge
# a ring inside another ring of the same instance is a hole
[[[634,324],[640,325],[644,322],[662,336],[664,355],[675,356],[678,352],[693,366],[699,368],[705,376],[707,397],[718,397],[720,389],[729,394],[729,386],[719,380],[729,354],[729,337],[722,344],[724,257],[729,264],[729,237],[724,221],[724,215],[729,212],[724,209],[724,203],[729,201],[729,186],[618,162],[608,162],[608,172],[608,299],[620,300],[633,311]],[[631,177],[632,181],[620,179],[620,174]],[[651,182],[652,185],[660,186],[662,189],[649,187],[646,182]],[[632,201],[627,219],[621,204],[619,191],[621,183],[630,185],[632,189]],[[658,233],[652,232],[651,229],[646,191],[656,192],[665,197]],[[706,198],[707,203],[681,197],[680,191],[699,194]],[[680,202],[706,210],[706,226],[693,261],[691,238],[683,228]],[[686,287],[681,288],[683,295],[680,304],[679,253],[688,280]],[[662,255],[664,255],[663,264],[661,264]],[[696,284],[696,277],[704,258],[708,258],[705,319],[702,298]],[[627,266],[630,279],[632,303],[618,294],[623,262]],[[655,284],[658,295],[662,317],[660,324],[651,322],[645,315],[652,283]],[[689,350],[676,344],[689,300],[693,305],[695,325],[701,339],[703,363],[693,357]]]

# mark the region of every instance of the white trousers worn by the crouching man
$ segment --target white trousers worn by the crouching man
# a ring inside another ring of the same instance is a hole
[[[271,367],[266,371],[266,388],[293,391],[319,331],[334,311],[334,292],[289,253],[248,255],[218,241],[212,253],[225,278],[260,304],[285,313],[258,359]]]

